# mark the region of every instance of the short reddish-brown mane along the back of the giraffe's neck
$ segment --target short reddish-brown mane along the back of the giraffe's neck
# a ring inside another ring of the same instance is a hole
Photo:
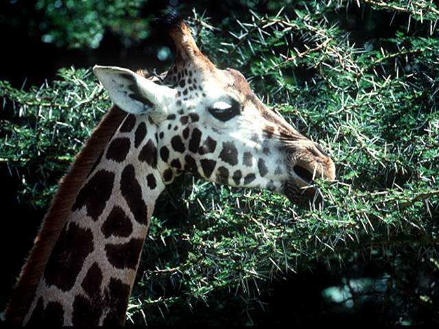
[[[137,74],[151,78],[147,71],[139,70]],[[5,312],[5,319],[9,323],[21,324],[23,322],[29,304],[32,302],[32,295],[34,295],[38,282],[43,276],[51,251],[67,222],[75,197],[99,154],[102,153],[105,145],[126,115],[127,113],[117,106],[112,106],[95,127],[85,146],[75,156],[69,170],[58,183],[58,191],[52,199],[34,240],[34,245],[12,289]]]

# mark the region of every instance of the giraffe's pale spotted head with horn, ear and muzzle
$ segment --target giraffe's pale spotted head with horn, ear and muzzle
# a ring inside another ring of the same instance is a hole
[[[239,71],[217,69],[185,23],[177,21],[169,33],[176,61],[161,80],[119,67],[93,69],[117,106],[156,130],[156,164],[165,183],[189,171],[303,202],[316,197],[313,178],[335,178],[322,148],[267,108]]]

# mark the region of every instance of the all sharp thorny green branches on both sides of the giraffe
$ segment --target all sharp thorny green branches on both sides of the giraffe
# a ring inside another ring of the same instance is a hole
[[[182,178],[187,184],[174,184],[156,207],[128,318],[178,323],[185,305],[219,307],[230,295],[246,301],[237,303],[245,313],[272,278],[369,257],[385,271],[325,290],[329,302],[349,308],[375,295],[387,324],[437,322],[438,7],[281,2],[215,27],[209,12],[194,12],[190,25],[215,64],[239,69],[265,103],[329,151],[337,182],[316,182],[325,199],[316,209]],[[109,104],[89,71],[64,69],[60,78],[29,91],[0,82],[3,108],[14,113],[2,124],[0,158],[38,207]],[[234,321],[252,323],[250,313]]]

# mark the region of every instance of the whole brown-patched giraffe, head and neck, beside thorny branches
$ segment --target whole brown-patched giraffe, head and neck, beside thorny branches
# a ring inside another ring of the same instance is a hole
[[[124,324],[156,199],[176,175],[266,188],[305,202],[333,160],[218,69],[177,15],[176,60],[161,76],[93,72],[114,103],[60,181],[5,313],[12,324]]]

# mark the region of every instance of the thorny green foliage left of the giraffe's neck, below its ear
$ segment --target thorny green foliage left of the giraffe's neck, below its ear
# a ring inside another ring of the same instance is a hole
[[[3,109],[16,114],[2,121],[0,161],[19,169],[23,202],[49,206],[60,175],[110,106],[91,75],[62,69],[61,80],[29,91],[0,81]]]

